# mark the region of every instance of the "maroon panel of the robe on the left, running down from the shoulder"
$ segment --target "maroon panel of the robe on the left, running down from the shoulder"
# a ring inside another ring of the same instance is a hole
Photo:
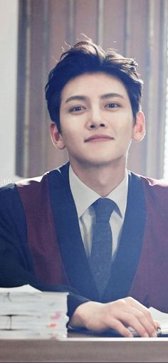
[[[47,285],[69,285],[56,238],[48,174],[17,183],[26,216],[27,240],[38,278]]]

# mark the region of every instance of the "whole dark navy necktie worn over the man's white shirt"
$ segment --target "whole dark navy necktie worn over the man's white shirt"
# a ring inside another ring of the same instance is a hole
[[[93,229],[90,268],[100,297],[102,297],[110,278],[112,261],[110,216],[115,208],[115,202],[107,198],[100,198],[93,203],[93,207],[95,209],[95,226]]]

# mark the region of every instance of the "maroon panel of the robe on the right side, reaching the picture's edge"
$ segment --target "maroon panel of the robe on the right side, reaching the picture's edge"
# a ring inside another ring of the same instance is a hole
[[[168,186],[142,178],[147,218],[130,295],[147,307],[168,312]]]

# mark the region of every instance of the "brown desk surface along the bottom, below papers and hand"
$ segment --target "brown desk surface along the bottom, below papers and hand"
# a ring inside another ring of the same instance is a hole
[[[168,362],[168,338],[0,340],[0,362]]]

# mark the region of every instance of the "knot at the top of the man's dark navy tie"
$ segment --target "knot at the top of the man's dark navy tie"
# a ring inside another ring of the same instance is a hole
[[[107,198],[99,198],[93,203],[96,222],[108,222],[112,211],[115,209],[115,201]]]

